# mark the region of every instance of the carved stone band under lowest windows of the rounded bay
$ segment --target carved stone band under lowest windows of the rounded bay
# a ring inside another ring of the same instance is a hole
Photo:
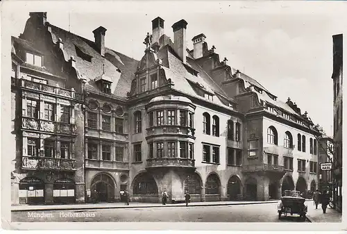
[[[158,167],[183,167],[194,168],[195,160],[190,158],[149,158],[147,168]]]

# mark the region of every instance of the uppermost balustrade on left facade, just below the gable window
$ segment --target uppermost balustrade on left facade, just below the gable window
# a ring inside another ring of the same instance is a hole
[[[38,90],[46,93],[56,94],[62,97],[68,97],[70,99],[78,99],[82,100],[82,95],[79,93],[76,93],[73,88],[71,90],[67,90],[62,87],[56,87],[51,85],[45,85],[43,83],[36,83],[33,81],[28,81],[25,79],[20,80],[21,87],[25,87],[27,89],[31,90]]]

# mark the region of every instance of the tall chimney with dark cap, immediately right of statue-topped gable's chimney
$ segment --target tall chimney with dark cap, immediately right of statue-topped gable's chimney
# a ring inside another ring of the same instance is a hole
[[[186,35],[185,30],[187,29],[187,22],[184,19],[181,19],[179,22],[176,22],[172,29],[174,30],[174,50],[180,56],[180,59],[183,63],[186,62],[187,48],[186,48]]]

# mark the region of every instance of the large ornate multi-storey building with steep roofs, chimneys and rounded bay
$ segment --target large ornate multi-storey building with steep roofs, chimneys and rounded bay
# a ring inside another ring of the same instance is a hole
[[[119,201],[125,190],[132,201],[160,202],[163,190],[172,202],[186,190],[192,201],[266,201],[316,189],[307,112],[220,61],[203,33],[187,48],[187,24],[173,24],[171,40],[153,19],[134,60],[105,47],[102,26],[90,41],[30,14],[12,37],[12,203]]]

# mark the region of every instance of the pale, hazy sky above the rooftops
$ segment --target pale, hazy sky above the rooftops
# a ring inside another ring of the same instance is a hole
[[[11,35],[22,33],[29,11],[46,11],[48,22],[89,40],[95,28],[105,27],[106,47],[137,60],[152,19],[164,19],[171,40],[172,24],[185,19],[189,49],[192,37],[204,33],[221,60],[228,58],[278,99],[290,97],[332,135],[332,35],[347,28],[344,2],[14,1],[6,7]]]

